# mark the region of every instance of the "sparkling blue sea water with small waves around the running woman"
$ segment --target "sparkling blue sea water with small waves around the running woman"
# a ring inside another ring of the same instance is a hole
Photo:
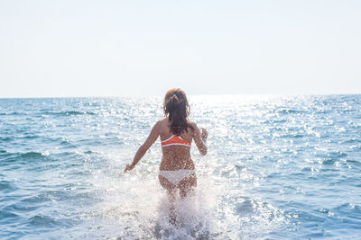
[[[189,96],[197,195],[167,220],[156,98],[0,99],[1,239],[361,236],[361,95]]]

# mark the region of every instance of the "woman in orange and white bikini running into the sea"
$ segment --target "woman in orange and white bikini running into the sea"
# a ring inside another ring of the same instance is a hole
[[[126,164],[125,173],[132,170],[155,140],[161,137],[162,163],[159,168],[159,182],[167,191],[171,205],[170,221],[174,224],[176,219],[173,202],[177,190],[180,197],[184,198],[197,186],[194,163],[190,157],[191,141],[194,139],[200,154],[206,155],[208,132],[206,129],[201,129],[200,132],[197,125],[188,120],[190,105],[186,93],[179,88],[171,89],[165,94],[163,111],[164,119],[155,123],[149,137],[136,152],[133,163]]]

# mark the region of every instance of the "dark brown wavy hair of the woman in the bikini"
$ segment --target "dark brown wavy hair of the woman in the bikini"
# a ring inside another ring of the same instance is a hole
[[[164,97],[163,111],[171,121],[171,131],[180,136],[188,128],[193,130],[188,116],[190,115],[190,105],[188,104],[186,93],[179,88],[169,90]]]

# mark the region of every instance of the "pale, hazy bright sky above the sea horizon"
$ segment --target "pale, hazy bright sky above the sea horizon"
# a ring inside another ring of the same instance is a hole
[[[0,0],[0,97],[361,93],[361,1]]]

